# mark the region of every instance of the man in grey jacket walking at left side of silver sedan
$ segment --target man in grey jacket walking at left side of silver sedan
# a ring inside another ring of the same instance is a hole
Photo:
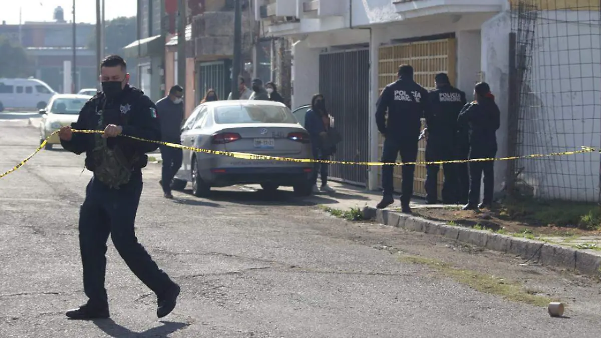
[[[158,100],[157,111],[160,115],[160,130],[163,142],[181,144],[182,124],[184,121],[184,88],[174,85],[169,90],[169,95]],[[171,182],[180,167],[182,167],[182,149],[168,146],[160,146],[160,155],[163,159],[162,176],[159,181],[163,188],[165,198],[173,198],[171,194]]]

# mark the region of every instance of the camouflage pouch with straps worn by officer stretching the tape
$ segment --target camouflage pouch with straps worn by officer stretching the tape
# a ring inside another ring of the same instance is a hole
[[[103,100],[102,110],[99,111],[99,106],[96,106],[96,115],[99,116],[97,127],[102,131],[106,128],[105,106],[106,99]],[[127,124],[127,114],[129,112],[121,114],[121,126]],[[107,141],[108,139],[103,138],[102,134],[94,134],[94,150],[92,151],[94,177],[111,189],[119,189],[121,185],[129,182],[135,159],[127,159],[118,143],[115,143],[113,149],[109,149]]]

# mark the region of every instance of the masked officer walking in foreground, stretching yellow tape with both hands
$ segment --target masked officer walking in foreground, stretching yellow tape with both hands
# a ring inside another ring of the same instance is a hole
[[[94,173],[79,212],[79,248],[84,268],[84,291],[88,302],[66,315],[72,319],[108,318],[105,289],[106,241],[111,235],[127,266],[158,298],[157,316],[175,307],[180,286],[154,263],[139,244],[134,230],[142,193],[145,153],[157,144],[132,140],[130,135],[160,140],[160,124],[154,103],[144,92],[131,87],[123,58],[106,57],[100,64],[102,91],[85,103],[76,123],[60,129],[64,149],[86,154],[85,166]],[[104,134],[74,134],[71,129],[97,129]]]

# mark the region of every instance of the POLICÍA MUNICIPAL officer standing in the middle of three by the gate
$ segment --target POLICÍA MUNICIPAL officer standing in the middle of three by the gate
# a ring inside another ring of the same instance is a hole
[[[456,158],[457,117],[466,103],[465,93],[451,86],[447,74],[435,76],[436,89],[430,91],[430,109],[426,112],[426,162],[451,161]],[[441,165],[426,165],[426,203],[438,203],[438,171]],[[455,164],[443,164],[442,203],[456,204],[458,180]]]

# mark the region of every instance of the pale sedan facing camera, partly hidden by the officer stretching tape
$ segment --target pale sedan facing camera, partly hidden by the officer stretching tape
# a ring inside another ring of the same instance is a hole
[[[40,109],[40,144],[57,129],[76,122],[79,111],[92,97],[80,94],[56,94],[44,109]],[[54,144],[60,144],[58,134],[52,135],[44,149],[50,150]]]

